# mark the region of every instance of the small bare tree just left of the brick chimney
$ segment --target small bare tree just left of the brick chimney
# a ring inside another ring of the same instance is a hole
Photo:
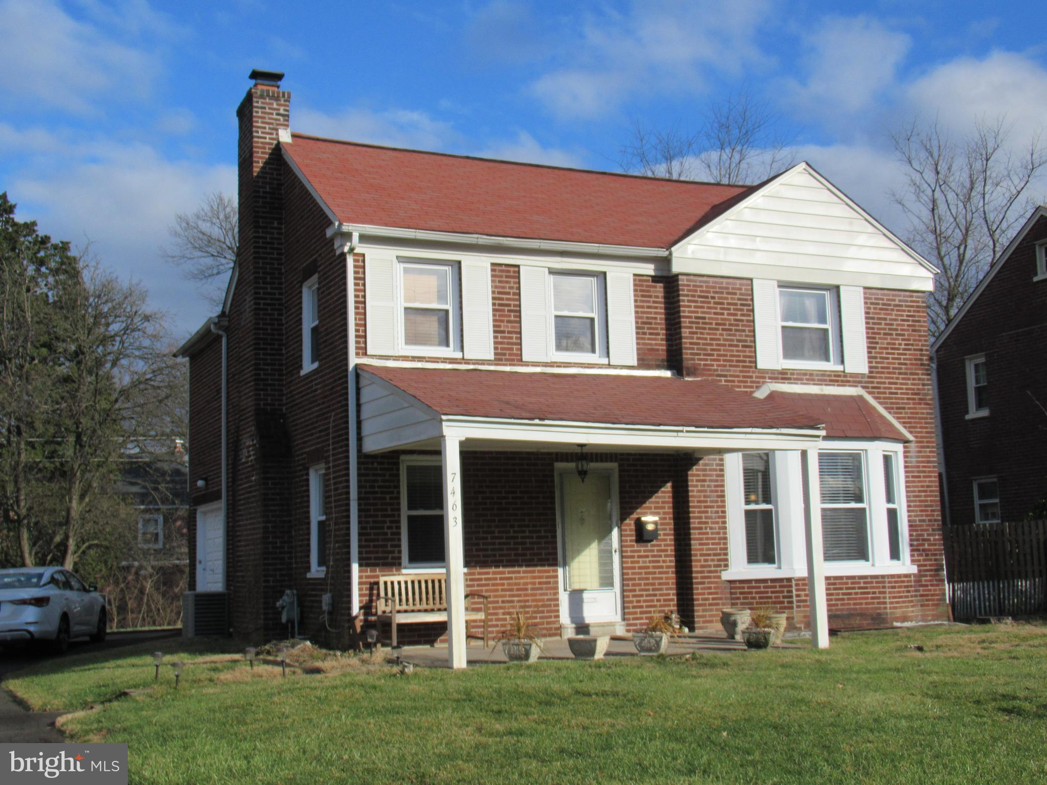
[[[179,212],[168,228],[171,243],[161,248],[164,261],[182,276],[200,285],[207,300],[218,306],[222,290],[217,284],[228,275],[240,247],[237,200],[214,192],[193,212]]]

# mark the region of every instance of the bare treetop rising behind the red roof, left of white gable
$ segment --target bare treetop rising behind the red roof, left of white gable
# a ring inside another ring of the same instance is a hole
[[[693,131],[634,119],[619,163],[625,172],[674,180],[760,182],[796,162],[788,150],[793,138],[780,134],[779,119],[765,102],[741,90],[710,102],[705,120]]]

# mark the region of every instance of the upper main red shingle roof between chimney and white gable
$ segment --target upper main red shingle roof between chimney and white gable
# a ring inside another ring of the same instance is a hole
[[[282,149],[341,223],[431,231],[668,248],[749,189],[304,134]]]

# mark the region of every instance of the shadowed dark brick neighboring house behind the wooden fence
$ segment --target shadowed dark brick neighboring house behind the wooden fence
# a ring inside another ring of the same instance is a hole
[[[931,347],[945,522],[1023,519],[1047,496],[1047,205]]]

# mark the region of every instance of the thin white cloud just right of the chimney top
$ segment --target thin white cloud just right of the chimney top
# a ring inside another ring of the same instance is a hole
[[[460,138],[449,122],[409,109],[374,111],[353,107],[337,114],[296,109],[291,127],[294,131],[333,139],[421,150],[446,150]]]

